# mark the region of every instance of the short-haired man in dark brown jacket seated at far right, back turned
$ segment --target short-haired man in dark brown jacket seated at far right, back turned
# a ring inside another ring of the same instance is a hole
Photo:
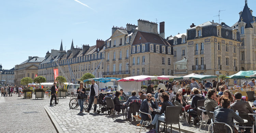
[[[235,102],[230,105],[231,109],[233,109],[234,112],[236,110],[238,110],[239,114],[240,113],[241,114],[254,114],[253,109],[250,106],[250,104],[246,101],[241,101],[242,94],[240,92],[236,92],[234,94],[234,98],[235,98]],[[252,115],[250,115],[250,121],[254,121],[254,117]],[[246,129],[248,129],[251,133],[253,132],[252,128],[246,128]],[[244,132],[244,128],[239,128],[239,130],[241,131],[241,133]]]

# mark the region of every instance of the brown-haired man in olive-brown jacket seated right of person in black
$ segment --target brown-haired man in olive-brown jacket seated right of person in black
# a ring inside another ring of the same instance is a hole
[[[208,98],[204,101],[205,110],[214,112],[215,107],[218,106],[217,102],[214,101],[216,99],[216,92],[213,89],[209,89],[207,92]],[[213,117],[213,114],[207,113],[210,119]]]

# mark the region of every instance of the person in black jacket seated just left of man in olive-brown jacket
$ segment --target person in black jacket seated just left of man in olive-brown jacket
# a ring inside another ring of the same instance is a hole
[[[193,107],[193,109],[187,110],[187,113],[190,112],[190,116],[193,117],[193,121],[194,121],[194,125],[197,125],[198,122],[198,118],[197,118],[197,101],[198,100],[204,100],[204,96],[202,94],[200,94],[201,92],[195,88],[193,89],[194,92],[194,96],[192,98],[192,102],[191,102],[191,107]],[[200,93],[199,93],[200,92]],[[190,117],[189,117],[190,119]]]

